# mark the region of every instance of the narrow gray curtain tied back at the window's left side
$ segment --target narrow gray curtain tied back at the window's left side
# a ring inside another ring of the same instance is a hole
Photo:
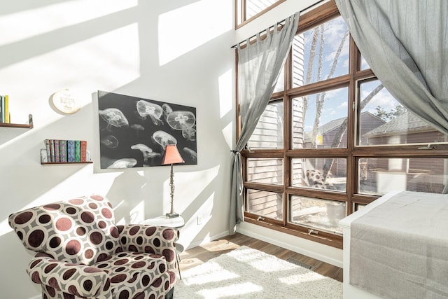
[[[244,221],[243,181],[241,172],[240,151],[246,146],[253,130],[269,102],[274,87],[279,78],[281,67],[286,61],[288,51],[293,42],[299,13],[286,18],[281,30],[274,25],[274,30],[266,29],[267,37],[256,42],[246,41],[246,48],[237,44],[238,55],[238,90],[239,111],[241,116],[241,134],[235,148],[232,150],[232,178],[230,191],[230,234],[236,231],[236,224]]]

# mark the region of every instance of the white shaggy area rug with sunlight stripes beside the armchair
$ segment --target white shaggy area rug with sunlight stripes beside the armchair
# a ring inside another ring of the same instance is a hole
[[[193,298],[342,298],[342,283],[241,246],[181,272],[175,299]]]

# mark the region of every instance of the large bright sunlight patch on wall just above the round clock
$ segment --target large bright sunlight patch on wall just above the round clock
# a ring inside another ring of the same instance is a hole
[[[139,77],[137,23],[80,39],[62,48],[49,46],[47,53],[11,64],[0,72],[1,83],[8,86],[8,94],[13,95],[10,96],[10,111],[14,111],[15,119],[26,119],[28,113],[44,114],[43,110],[48,109],[46,102],[56,90],[76,91],[80,105],[85,106],[92,102],[91,94],[99,87],[114,90]],[[26,88],[24,82],[27,82]],[[21,111],[25,115],[20,116]]]

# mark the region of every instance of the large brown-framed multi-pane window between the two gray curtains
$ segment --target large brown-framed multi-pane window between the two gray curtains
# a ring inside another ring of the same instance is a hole
[[[448,136],[384,88],[334,1],[300,16],[280,77],[241,153],[246,221],[342,248],[356,209],[447,186]]]

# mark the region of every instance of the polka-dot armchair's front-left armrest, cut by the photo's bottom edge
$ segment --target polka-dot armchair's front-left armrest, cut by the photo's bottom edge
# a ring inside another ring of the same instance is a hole
[[[82,298],[111,298],[111,281],[103,270],[55,260],[46,253],[36,253],[27,273],[36,284],[44,284]]]

